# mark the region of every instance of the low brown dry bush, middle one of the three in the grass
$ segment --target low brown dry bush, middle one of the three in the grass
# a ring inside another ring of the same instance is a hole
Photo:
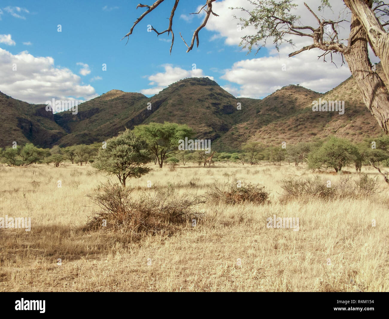
[[[215,182],[211,186],[211,190],[205,194],[205,197],[215,203],[238,204],[252,202],[265,204],[270,203],[269,195],[270,193],[265,190],[265,187],[260,187],[259,184],[249,183],[237,187],[236,183],[226,182],[219,187]]]

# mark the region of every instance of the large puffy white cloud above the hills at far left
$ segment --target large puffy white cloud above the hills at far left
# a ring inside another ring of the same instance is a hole
[[[16,70],[12,70],[16,65]],[[36,57],[27,51],[13,55],[0,48],[0,91],[22,101],[43,104],[58,100],[89,100],[98,96],[91,85],[67,68],[54,66],[50,56]]]

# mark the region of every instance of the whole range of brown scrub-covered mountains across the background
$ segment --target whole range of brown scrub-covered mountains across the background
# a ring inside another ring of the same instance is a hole
[[[377,72],[383,77],[380,65]],[[312,101],[319,98],[344,100],[345,113],[313,112]],[[238,150],[246,141],[294,144],[330,134],[361,141],[381,134],[352,77],[324,94],[288,85],[262,100],[236,98],[209,78],[187,78],[150,98],[111,90],[79,104],[75,115],[70,111],[53,114],[45,105],[0,92],[0,111],[0,147],[11,146],[13,141],[44,148],[90,144],[125,128],[165,121],[189,125],[195,138],[211,139],[219,151]]]

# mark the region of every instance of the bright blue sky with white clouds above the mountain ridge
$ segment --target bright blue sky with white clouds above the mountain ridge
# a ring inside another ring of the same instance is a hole
[[[172,0],[138,24],[127,45],[126,39],[120,39],[146,10],[135,9],[138,0],[1,1],[0,91],[34,103],[51,97],[87,100],[112,89],[151,96],[180,78],[209,76],[235,96],[261,98],[288,84],[326,92],[349,77],[347,65],[336,69],[317,62],[319,51],[287,58],[292,48],[277,53],[269,47],[247,55],[238,47],[243,33],[238,32],[234,12],[228,9],[245,1],[216,1],[214,11],[220,16],[210,17],[200,32],[199,48],[186,53],[179,32],[191,41],[203,15],[189,13],[204,0],[181,0],[173,20],[171,55],[170,36],[157,38],[147,32],[147,25],[165,30]],[[12,71],[14,63],[16,71]],[[282,63],[287,65],[286,72],[281,70]]]

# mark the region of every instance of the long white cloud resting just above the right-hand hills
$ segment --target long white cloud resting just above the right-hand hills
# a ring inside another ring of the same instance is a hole
[[[351,75],[347,65],[340,67],[338,55],[334,56],[334,62],[338,65],[336,68],[333,63],[317,60],[317,56],[321,54],[319,49],[312,49],[313,52],[303,52],[292,58],[288,58],[285,51],[287,49],[282,49],[280,56],[235,62],[230,69],[225,70],[221,78],[240,86],[238,92],[234,92],[238,93],[236,96],[259,98],[289,84],[300,84],[310,90],[326,92]]]

